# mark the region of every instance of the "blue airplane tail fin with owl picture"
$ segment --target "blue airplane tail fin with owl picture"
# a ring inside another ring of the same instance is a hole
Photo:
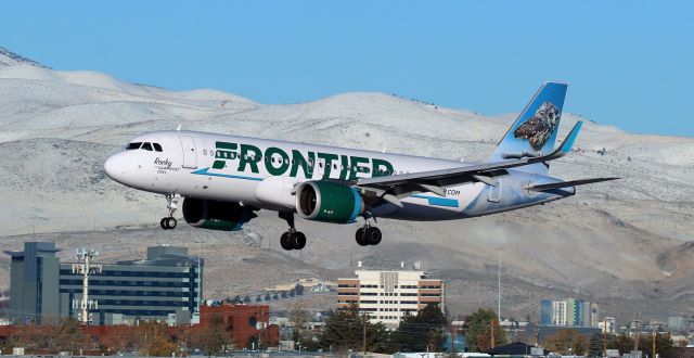
[[[568,85],[545,82],[503,136],[489,161],[540,156],[554,149]],[[547,174],[548,167],[532,164],[518,169]]]

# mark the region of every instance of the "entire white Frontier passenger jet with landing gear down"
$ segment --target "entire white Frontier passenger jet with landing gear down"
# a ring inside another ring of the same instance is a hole
[[[364,225],[362,246],[381,242],[376,218],[454,220],[543,204],[576,193],[576,186],[612,180],[563,181],[549,162],[569,153],[581,122],[555,150],[567,85],[547,82],[491,156],[481,163],[385,154],[355,149],[205,133],[156,131],[134,138],[104,163],[113,180],[166,195],[174,229],[178,201],[196,228],[240,230],[260,209],[274,210],[290,229],[280,243],[301,250],[307,220]]]

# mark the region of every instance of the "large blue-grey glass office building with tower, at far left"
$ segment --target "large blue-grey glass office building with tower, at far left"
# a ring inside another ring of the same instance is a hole
[[[54,243],[27,242],[5,252],[11,265],[11,319],[52,324],[81,314],[83,276],[60,263]],[[185,247],[147,247],[140,260],[100,265],[88,279],[91,324],[136,324],[138,320],[189,323],[200,311],[202,268]]]

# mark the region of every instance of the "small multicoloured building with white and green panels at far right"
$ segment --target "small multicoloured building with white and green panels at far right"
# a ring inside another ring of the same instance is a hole
[[[566,298],[540,302],[540,325],[547,327],[597,327],[596,303]]]

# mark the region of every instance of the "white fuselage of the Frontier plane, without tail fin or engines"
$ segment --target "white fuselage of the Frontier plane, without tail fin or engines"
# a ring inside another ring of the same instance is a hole
[[[150,145],[124,150],[104,164],[106,174],[123,184],[159,194],[237,202],[271,210],[295,210],[293,189],[304,181],[356,180],[466,165],[195,131],[151,132],[134,138],[131,143]],[[494,180],[496,186],[467,182],[447,187],[445,197],[417,193],[402,199],[403,207],[385,204],[374,207],[371,214],[398,219],[447,220],[505,212],[569,194],[530,193],[524,189],[529,183],[556,180],[522,170],[507,170],[507,175]]]

